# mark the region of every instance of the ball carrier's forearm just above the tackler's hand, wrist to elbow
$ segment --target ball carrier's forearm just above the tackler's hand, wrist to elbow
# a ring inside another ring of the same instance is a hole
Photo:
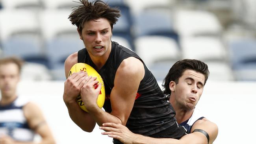
[[[87,110],[89,111],[89,114],[99,126],[102,126],[102,124],[106,122],[122,124],[121,120],[118,117],[103,111],[99,107],[95,107],[93,109],[87,109]]]

